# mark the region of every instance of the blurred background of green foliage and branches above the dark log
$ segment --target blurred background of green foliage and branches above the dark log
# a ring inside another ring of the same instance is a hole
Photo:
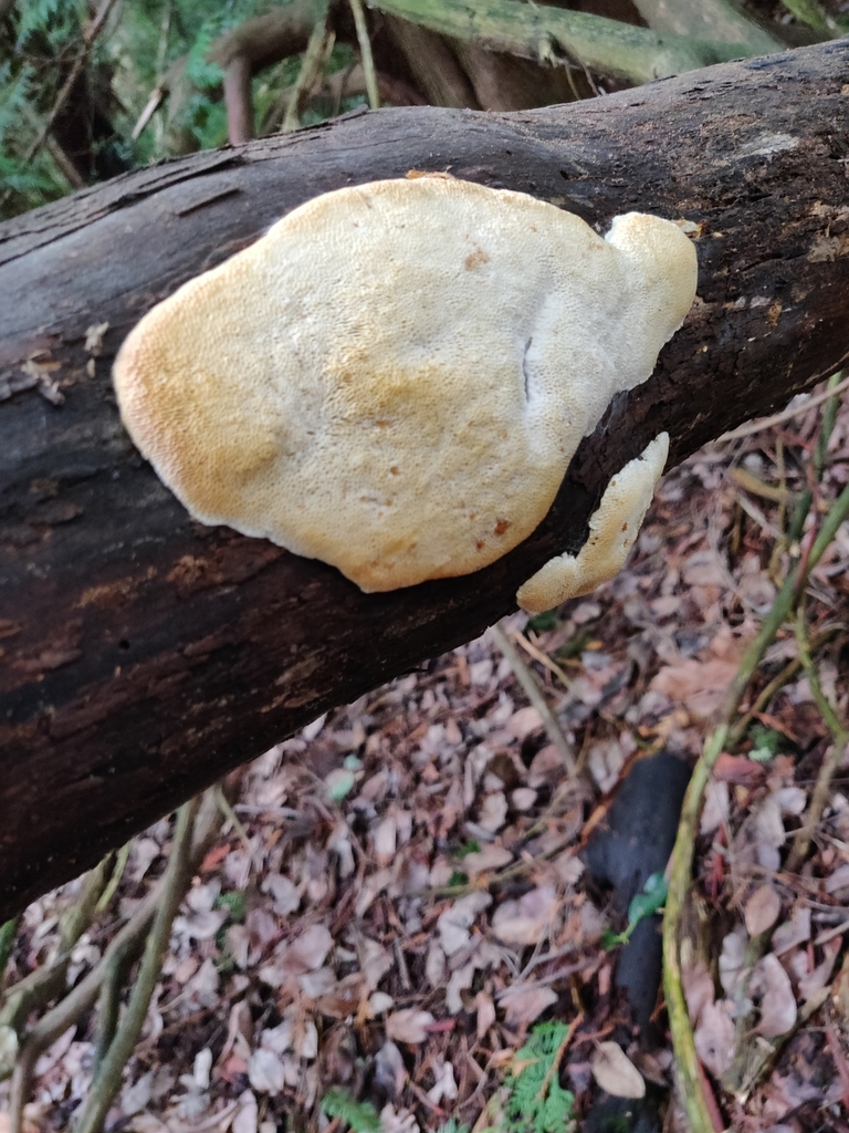
[[[849,32],[849,0],[0,0],[0,219],[359,105],[518,110]]]

